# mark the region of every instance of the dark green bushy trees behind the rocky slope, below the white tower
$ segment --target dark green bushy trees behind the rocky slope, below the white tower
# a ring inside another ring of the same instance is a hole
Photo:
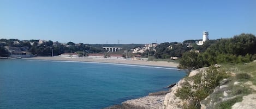
[[[256,59],[255,48],[256,37],[252,34],[241,34],[231,39],[215,41],[205,52],[184,53],[178,67],[181,69],[197,69],[217,63],[251,62]]]

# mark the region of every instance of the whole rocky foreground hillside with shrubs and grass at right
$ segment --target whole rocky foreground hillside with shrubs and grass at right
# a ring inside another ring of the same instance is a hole
[[[193,70],[166,94],[163,108],[254,108],[256,62]]]

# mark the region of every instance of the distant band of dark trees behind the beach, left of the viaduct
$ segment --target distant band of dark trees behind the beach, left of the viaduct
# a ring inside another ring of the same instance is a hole
[[[31,43],[33,43],[33,46],[31,45]],[[121,49],[121,53],[116,52],[116,54],[123,54],[124,50],[127,50],[127,56],[130,57],[130,49],[143,45],[144,44],[75,44],[74,42],[68,42],[67,44],[63,44],[59,43],[58,41],[52,42],[50,40],[43,41],[39,44],[39,40],[20,41],[18,39],[0,39],[0,56],[8,56],[10,54],[8,50],[4,48],[5,46],[9,46],[16,47],[18,49],[25,47],[26,49],[22,49],[22,51],[30,52],[31,54],[36,56],[51,56],[52,50],[53,56],[70,52],[76,52],[79,53],[80,56],[83,56],[84,51],[85,55],[87,55],[88,53],[105,53],[106,51],[103,49],[103,47],[121,47],[123,48]]]

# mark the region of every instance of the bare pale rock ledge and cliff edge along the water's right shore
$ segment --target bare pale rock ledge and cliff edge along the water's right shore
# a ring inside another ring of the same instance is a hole
[[[200,68],[197,70],[192,70],[189,76],[193,76],[205,68]],[[184,79],[181,79],[175,84],[171,84],[166,88],[169,88],[168,91],[159,91],[155,93],[149,93],[145,97],[138,99],[132,99],[122,102],[121,105],[114,105],[106,107],[104,109],[163,109],[163,108],[180,108],[180,104],[183,104],[184,101],[175,96],[175,93],[178,88],[182,87],[182,84],[185,82]]]

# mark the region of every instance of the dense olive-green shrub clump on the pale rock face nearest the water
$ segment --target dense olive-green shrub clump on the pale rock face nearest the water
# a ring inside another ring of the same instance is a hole
[[[186,78],[186,82],[181,88],[178,88],[177,97],[182,100],[189,100],[188,107],[200,108],[199,102],[209,96],[215,87],[217,87],[221,80],[228,78],[229,75],[223,70],[218,70],[217,67],[211,66],[207,68],[205,72],[201,72],[191,78]],[[193,81],[193,85],[190,85],[188,81]]]

